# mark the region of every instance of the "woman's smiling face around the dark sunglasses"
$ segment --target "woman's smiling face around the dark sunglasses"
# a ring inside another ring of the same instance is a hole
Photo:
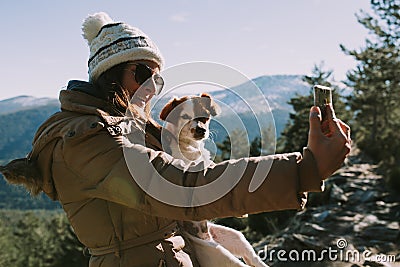
[[[127,63],[126,68],[123,70],[122,87],[128,90],[131,98],[131,103],[139,108],[144,108],[146,104],[156,93],[156,84],[153,79],[146,80],[142,85],[138,84],[135,79],[137,64],[148,66],[152,73],[158,73],[158,64],[149,60],[137,60]]]

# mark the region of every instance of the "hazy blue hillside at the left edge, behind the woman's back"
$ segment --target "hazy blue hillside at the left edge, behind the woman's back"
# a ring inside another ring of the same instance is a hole
[[[0,101],[0,164],[24,157],[31,150],[36,129],[51,114],[59,110],[54,99],[46,101],[32,97],[16,97]],[[28,102],[24,102],[28,100]],[[30,109],[30,108],[31,109]],[[14,112],[11,112],[14,111]],[[40,195],[32,199],[22,187],[11,186],[0,179],[0,209],[55,209],[60,205]]]

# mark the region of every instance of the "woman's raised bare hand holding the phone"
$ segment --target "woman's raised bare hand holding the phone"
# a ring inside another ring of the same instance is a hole
[[[350,127],[336,118],[331,105],[328,105],[326,109],[329,132],[324,134],[321,128],[321,111],[316,106],[311,108],[307,144],[315,157],[319,174],[323,179],[340,168],[351,148]]]

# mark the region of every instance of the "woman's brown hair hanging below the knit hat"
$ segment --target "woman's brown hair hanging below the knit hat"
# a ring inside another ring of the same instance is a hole
[[[96,90],[98,90],[99,96],[109,104],[107,112],[109,112],[110,115],[121,116],[129,111],[134,116],[140,116],[130,103],[128,90],[122,86],[123,73],[128,64],[129,62],[123,62],[111,67],[93,82]],[[149,105],[145,107],[145,114],[146,118],[144,119],[151,119]]]

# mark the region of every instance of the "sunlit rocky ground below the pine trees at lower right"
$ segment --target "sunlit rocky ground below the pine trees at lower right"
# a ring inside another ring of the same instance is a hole
[[[254,247],[274,267],[400,266],[399,222],[400,194],[385,188],[376,165],[352,155],[289,227]]]

